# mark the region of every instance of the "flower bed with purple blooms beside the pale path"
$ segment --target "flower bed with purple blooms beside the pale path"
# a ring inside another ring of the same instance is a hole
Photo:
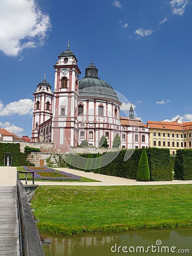
[[[47,167],[27,167],[26,171],[34,171],[35,180],[81,180],[80,176],[69,174],[68,172],[56,171]]]

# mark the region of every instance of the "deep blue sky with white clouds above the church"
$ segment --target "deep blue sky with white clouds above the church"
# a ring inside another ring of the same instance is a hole
[[[192,121],[190,0],[1,0],[0,127],[31,136],[32,93],[76,54],[148,120]]]

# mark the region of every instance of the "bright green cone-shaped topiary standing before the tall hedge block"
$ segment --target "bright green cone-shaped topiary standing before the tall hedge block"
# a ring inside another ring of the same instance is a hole
[[[137,181],[150,181],[149,164],[145,148],[143,149],[139,160]]]

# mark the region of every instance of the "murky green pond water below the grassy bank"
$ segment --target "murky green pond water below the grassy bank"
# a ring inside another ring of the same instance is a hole
[[[191,228],[43,237],[52,241],[45,256],[192,255]]]

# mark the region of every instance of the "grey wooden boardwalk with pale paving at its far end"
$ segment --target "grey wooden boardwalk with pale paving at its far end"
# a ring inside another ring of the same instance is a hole
[[[0,255],[3,256],[18,255],[15,172],[13,168],[0,168]],[[11,179],[2,185],[6,175],[7,179],[11,175]]]

